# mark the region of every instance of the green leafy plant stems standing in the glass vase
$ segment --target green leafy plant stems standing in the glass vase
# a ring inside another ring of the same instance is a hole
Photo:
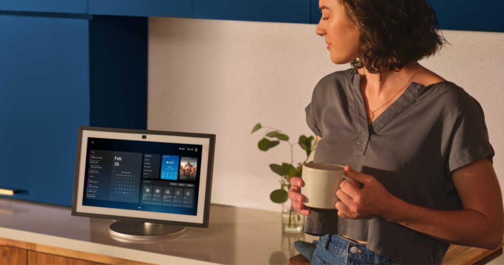
[[[300,177],[301,170],[304,164],[309,163],[308,157],[313,151],[315,146],[316,138],[314,136],[299,136],[299,139],[295,143],[289,141],[289,136],[282,133],[278,129],[274,129],[268,126],[262,126],[260,123],[254,126],[251,133],[255,133],[261,129],[266,132],[263,138],[258,142],[258,147],[262,151],[268,151],[269,149],[277,146],[280,142],[286,142],[290,145],[290,163],[283,162],[282,164],[270,164],[270,169],[280,176],[280,189],[276,189],[270,194],[270,198],[273,202],[283,203],[287,201],[287,192],[290,189],[290,179],[292,177]],[[306,159],[302,163],[297,163],[294,166],[294,145],[299,145],[304,151],[306,151]]]

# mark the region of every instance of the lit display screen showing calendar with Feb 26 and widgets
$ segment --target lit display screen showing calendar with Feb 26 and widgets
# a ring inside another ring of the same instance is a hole
[[[88,138],[83,205],[196,215],[201,149]]]

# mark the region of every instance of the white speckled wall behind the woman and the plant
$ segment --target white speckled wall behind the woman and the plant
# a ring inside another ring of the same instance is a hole
[[[315,25],[150,18],[148,129],[217,135],[212,202],[280,211],[269,194],[288,162],[282,144],[260,151],[253,126],[311,134],[304,107],[320,78],[350,66],[329,60]],[[504,33],[445,31],[451,43],[422,65],[481,103],[504,186]],[[295,161],[301,161],[296,152]]]

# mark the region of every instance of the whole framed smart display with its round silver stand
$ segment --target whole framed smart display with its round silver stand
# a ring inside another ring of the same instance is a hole
[[[208,228],[215,135],[80,126],[72,215],[143,240]]]

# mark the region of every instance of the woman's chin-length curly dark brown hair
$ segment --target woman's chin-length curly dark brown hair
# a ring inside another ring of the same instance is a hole
[[[398,71],[435,54],[445,38],[426,0],[339,0],[360,33],[355,68]]]

